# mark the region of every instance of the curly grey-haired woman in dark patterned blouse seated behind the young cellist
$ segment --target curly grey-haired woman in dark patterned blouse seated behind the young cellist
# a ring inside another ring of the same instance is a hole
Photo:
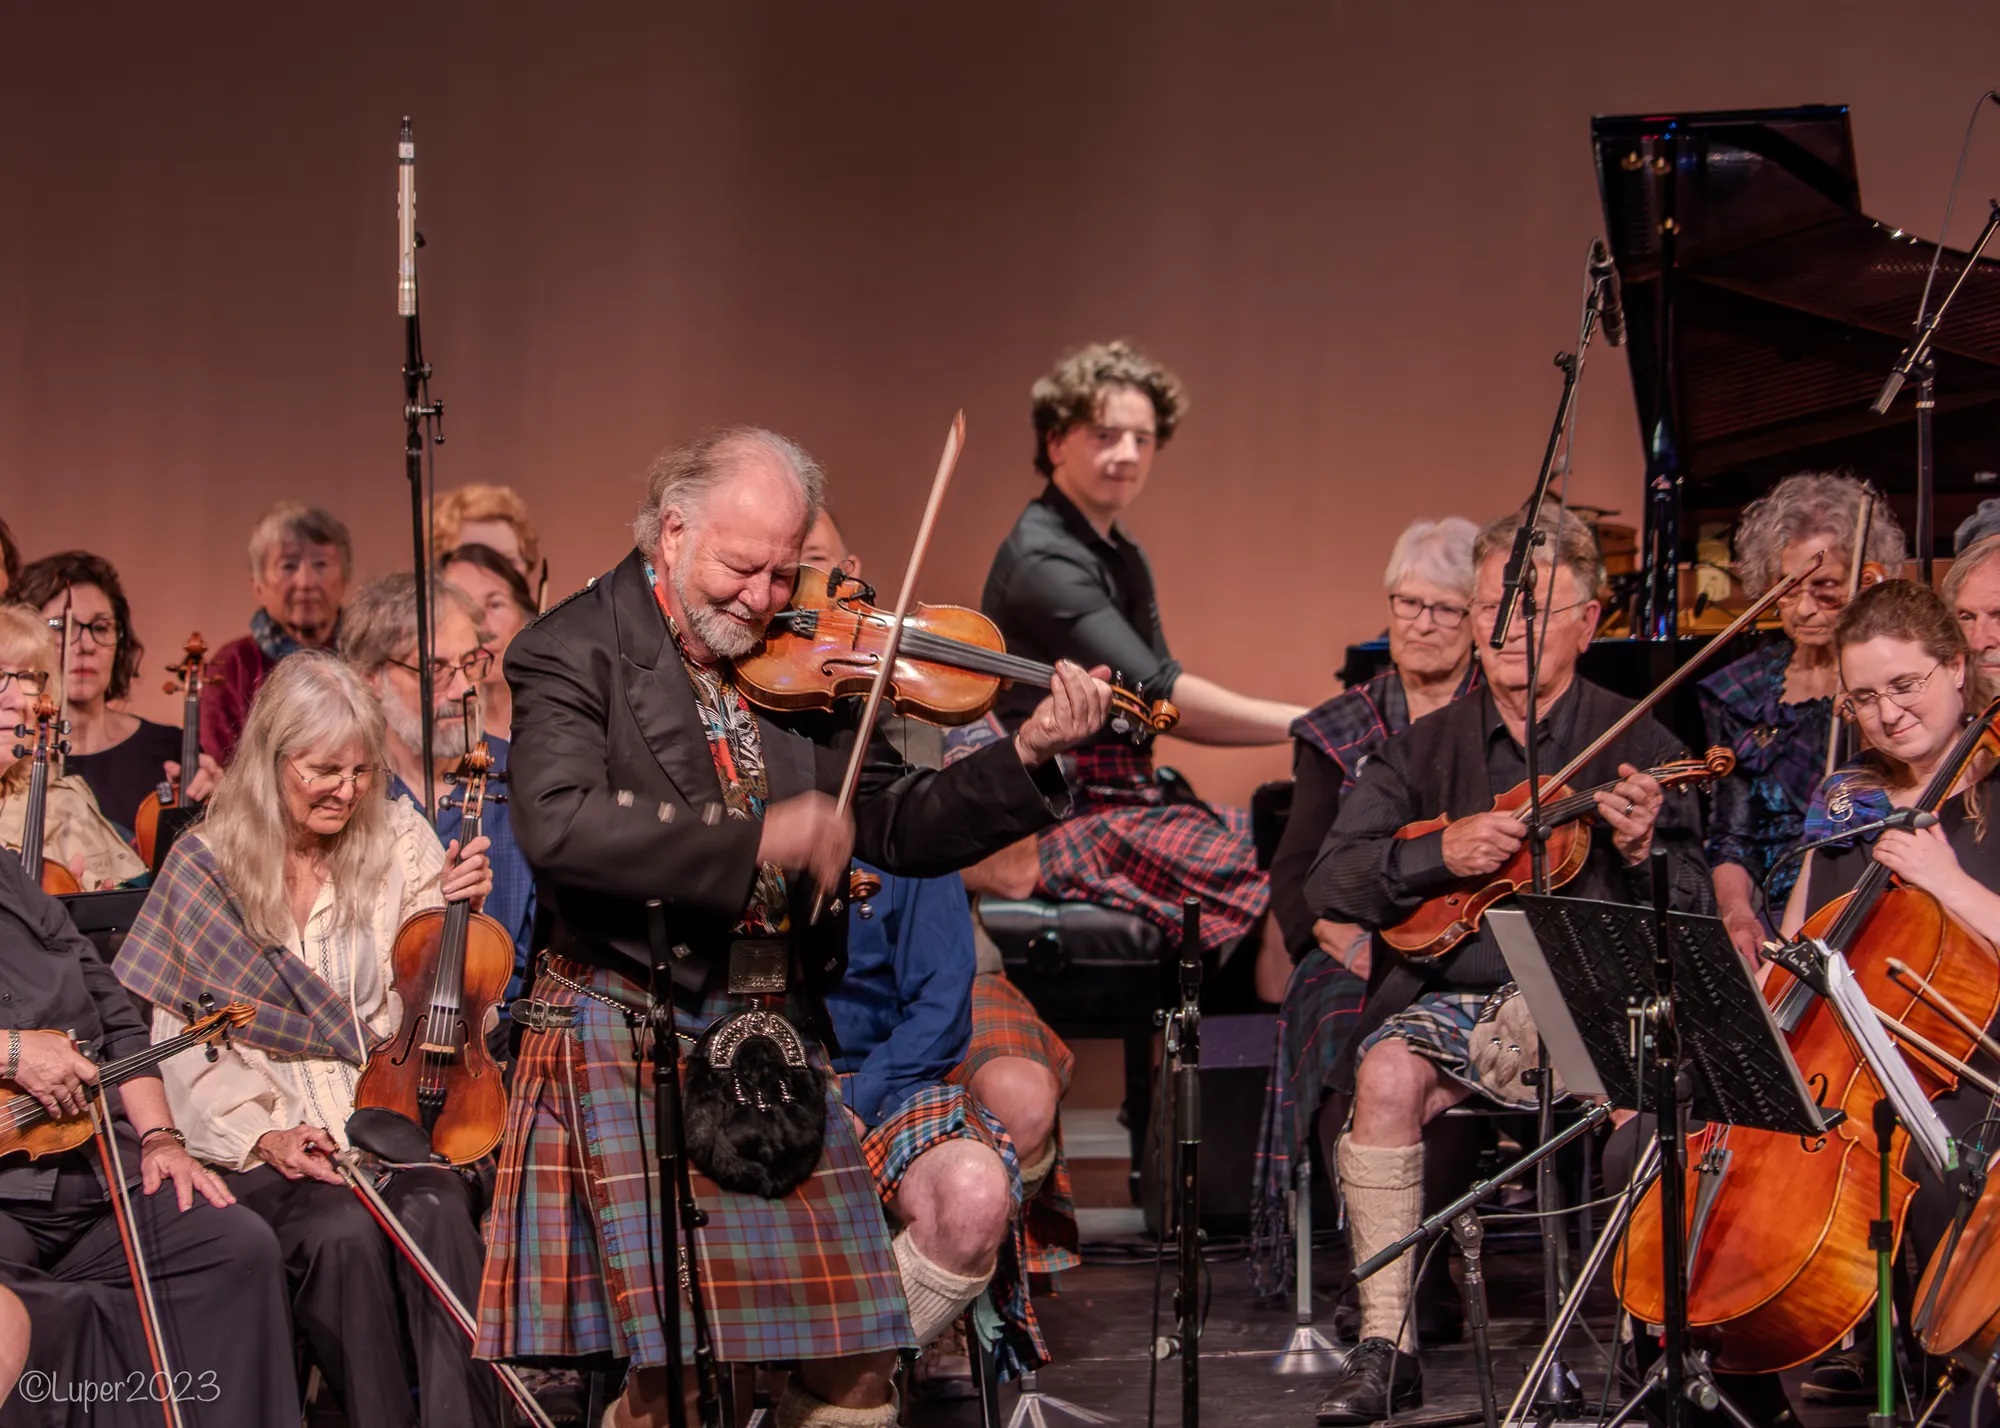
[[[1888,576],[1900,574],[1902,526],[1888,502],[1854,476],[1786,476],[1750,502],[1736,524],[1736,574],[1750,596],[1824,552],[1820,568],[1778,604],[1784,638],[1696,686],[1708,742],[1736,752],[1736,772],[1718,780],[1710,796],[1708,864],[1722,922],[1744,956],[1756,956],[1770,936],[1768,920],[1784,908],[1798,866],[1778,860],[1798,842],[1806,804],[1826,774],[1838,682],[1834,622],[1848,602],[1864,498],[1872,500],[1862,560]]]

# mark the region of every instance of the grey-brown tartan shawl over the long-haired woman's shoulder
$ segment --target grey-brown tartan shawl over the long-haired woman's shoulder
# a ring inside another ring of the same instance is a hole
[[[368,1060],[346,998],[288,948],[266,946],[244,928],[200,834],[174,842],[112,970],[132,992],[170,1012],[202,992],[218,1002],[256,1002],[250,1024],[230,1036],[260,1052],[354,1066]]]

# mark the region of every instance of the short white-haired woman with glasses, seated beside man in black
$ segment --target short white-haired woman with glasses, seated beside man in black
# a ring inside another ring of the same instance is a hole
[[[1478,684],[1468,614],[1472,542],[1478,534],[1478,526],[1464,516],[1414,520],[1404,528],[1382,572],[1388,668],[1292,724],[1292,812],[1270,864],[1272,916],[1294,966],[1282,992],[1258,1144],[1252,1240],[1254,1272],[1264,1292],[1280,1292],[1290,1272],[1284,1192],[1296,1156],[1306,1154],[1312,1140],[1326,1076],[1360,1018],[1370,972],[1368,936],[1356,926],[1314,918],[1306,904],[1306,874],[1362,762],[1390,734]],[[1332,1152],[1332,1138],[1326,1150]],[[1426,1276],[1424,1286],[1418,1314],[1436,1342],[1440,1310],[1434,1290],[1442,1286],[1442,1276]],[[1442,1312],[1450,1318],[1448,1308]]]

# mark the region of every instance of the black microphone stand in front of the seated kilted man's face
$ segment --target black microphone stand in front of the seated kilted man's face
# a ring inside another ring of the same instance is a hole
[[[1514,532],[1514,550],[1508,554],[1506,574],[1500,582],[1500,608],[1494,612],[1494,632],[1490,636],[1492,648],[1506,648],[1510,626],[1514,624],[1516,612],[1522,618],[1522,654],[1528,660],[1528,690],[1526,690],[1526,726],[1522,756],[1528,770],[1528,868],[1532,878],[1532,888],[1536,894],[1548,892],[1548,830],[1542,828],[1542,768],[1540,768],[1540,710],[1538,694],[1542,684],[1540,672],[1540,648],[1536,644],[1534,620],[1538,614],[1536,606],[1536,546],[1546,544],[1548,536],[1540,530],[1542,504],[1548,500],[1548,484],[1556,472],[1556,452],[1562,448],[1564,434],[1570,430],[1570,420],[1576,412],[1576,388],[1584,376],[1584,360],[1590,352],[1590,338],[1598,328],[1598,318],[1604,304],[1604,282],[1590,284],[1590,296],[1584,300],[1584,322],[1576,336],[1576,352],[1558,352],[1556,366],[1562,370],[1562,396],[1556,400],[1556,420],[1548,430],[1548,446],[1542,452],[1542,470],[1536,472],[1534,492],[1528,496],[1528,506],[1522,514],[1520,530]],[[1550,560],[1550,576],[1554,576],[1554,560]],[[1550,578],[1550,598],[1554,598],[1554,578]],[[1542,1144],[1554,1136],[1556,1130],[1556,1100],[1554,1100],[1554,1078],[1548,1070],[1548,1048],[1542,1046],[1536,1052],[1534,1070],[1534,1122],[1536,1138]],[[1546,1312],[1550,1322],[1562,1310],[1564,1298],[1564,1246],[1562,1230],[1554,1218],[1548,1218],[1550,1210],[1556,1208],[1556,1166],[1552,1160],[1542,1160],[1534,1170],[1534,1190],[1536,1204],[1540,1206],[1542,1218],[1542,1296],[1546,1302]],[[1550,1360],[1546,1376],[1548,1396],[1546,1404],[1558,1414],[1568,1416],[1582,1408],[1582,1388],[1576,1386],[1576,1376],[1570,1372],[1568,1364],[1562,1362],[1560,1352]]]

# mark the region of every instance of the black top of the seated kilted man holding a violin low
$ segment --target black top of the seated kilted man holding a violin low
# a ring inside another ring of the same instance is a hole
[[[1540,770],[1558,772],[1628,708],[1632,700],[1576,680],[1540,722]],[[1680,752],[1680,740],[1646,718],[1592,758],[1570,788],[1582,792],[1594,784],[1614,782],[1618,764],[1650,768]],[[1384,742],[1348,790],[1320,858],[1306,878],[1308,906],[1318,916],[1374,930],[1402,922],[1424,898],[1444,892],[1458,878],[1444,866],[1442,830],[1420,838],[1396,838],[1396,830],[1438,814],[1470,818],[1488,812],[1494,798],[1524,782],[1526,774],[1526,752],[1506,732],[1490,690],[1482,688],[1418,720]],[[1706,912],[1712,906],[1712,890],[1708,860],[1702,856],[1700,800],[1668,792],[1654,842],[1666,848],[1672,860],[1674,906],[1684,912]],[[1570,898],[1648,902],[1650,874],[1644,864],[1626,868],[1612,844],[1610,828],[1598,822],[1592,826],[1584,868],[1562,884],[1560,892]],[[1396,962],[1398,968],[1416,972],[1414,978],[1404,978],[1418,990],[1416,994],[1442,988],[1494,988],[1508,976],[1500,946],[1484,922],[1478,932],[1426,968],[1402,962],[1380,938],[1376,944],[1376,966]]]

